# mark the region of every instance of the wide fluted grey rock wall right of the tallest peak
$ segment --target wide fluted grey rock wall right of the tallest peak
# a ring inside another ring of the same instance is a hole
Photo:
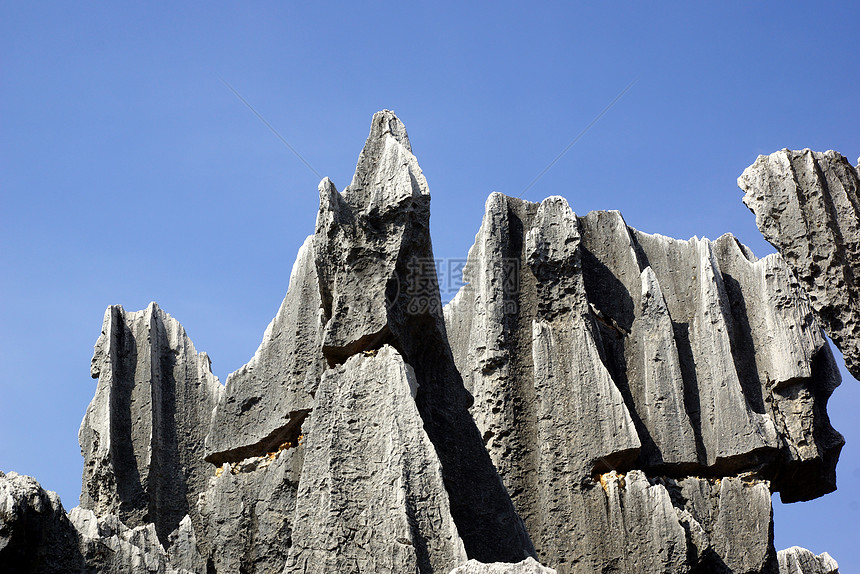
[[[595,473],[754,472],[784,501],[835,488],[839,374],[779,256],[492,194],[464,281],[449,341],[543,563],[568,571],[557,533]]]

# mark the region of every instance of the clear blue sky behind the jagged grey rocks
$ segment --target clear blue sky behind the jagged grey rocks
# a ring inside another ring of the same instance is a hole
[[[464,257],[492,191],[773,249],[735,180],[783,147],[860,155],[850,2],[0,3],[0,469],[77,504],[104,309],[157,301],[223,381],[252,355],[373,112],[395,110]],[[450,294],[448,294],[450,296]],[[860,383],[839,490],[775,502],[776,545],[860,569]]]

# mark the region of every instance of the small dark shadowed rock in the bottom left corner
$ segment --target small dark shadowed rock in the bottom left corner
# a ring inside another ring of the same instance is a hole
[[[16,472],[0,472],[0,566],[21,574],[85,571],[77,532],[57,493]]]

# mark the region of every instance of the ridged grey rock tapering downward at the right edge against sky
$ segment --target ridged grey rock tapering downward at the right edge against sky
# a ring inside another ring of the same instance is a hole
[[[835,151],[783,149],[738,178],[756,225],[809,293],[818,319],[860,379],[860,175]]]

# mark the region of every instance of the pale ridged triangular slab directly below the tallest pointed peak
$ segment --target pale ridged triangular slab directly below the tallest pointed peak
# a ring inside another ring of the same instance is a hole
[[[466,560],[417,385],[389,346],[323,375],[285,573],[448,572]]]

